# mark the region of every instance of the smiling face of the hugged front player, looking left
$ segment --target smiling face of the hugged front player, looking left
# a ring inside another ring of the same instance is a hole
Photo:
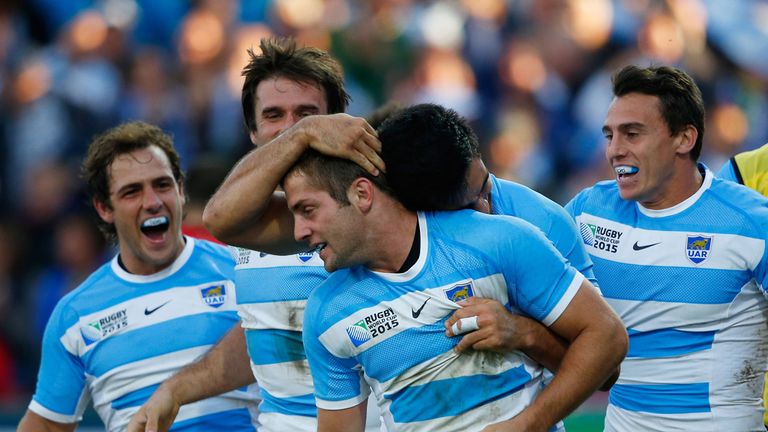
[[[363,222],[354,205],[340,206],[301,172],[289,174],[283,188],[293,213],[294,237],[319,252],[326,271],[364,263]]]

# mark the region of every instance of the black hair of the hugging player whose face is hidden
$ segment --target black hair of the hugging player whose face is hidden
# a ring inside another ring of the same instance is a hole
[[[456,111],[435,104],[403,108],[379,127],[387,181],[409,210],[463,205],[467,173],[480,158],[477,136]]]

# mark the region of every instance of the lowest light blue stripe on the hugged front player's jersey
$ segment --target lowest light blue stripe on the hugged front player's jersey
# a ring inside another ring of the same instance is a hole
[[[498,375],[473,375],[410,386],[384,397],[392,400],[390,411],[395,422],[410,423],[465,413],[517,392],[530,380],[521,365]]]

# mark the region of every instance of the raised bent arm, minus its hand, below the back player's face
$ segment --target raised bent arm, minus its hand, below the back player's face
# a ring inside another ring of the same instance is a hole
[[[307,146],[303,129],[294,127],[243,157],[208,201],[206,228],[228,244],[283,252],[273,248],[293,242],[293,219],[273,193]]]

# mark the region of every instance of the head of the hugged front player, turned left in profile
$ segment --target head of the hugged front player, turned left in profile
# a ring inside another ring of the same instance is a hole
[[[282,185],[294,237],[317,249],[328,271],[366,261],[366,229],[377,222],[374,208],[395,202],[382,175],[314,150],[299,158]]]

